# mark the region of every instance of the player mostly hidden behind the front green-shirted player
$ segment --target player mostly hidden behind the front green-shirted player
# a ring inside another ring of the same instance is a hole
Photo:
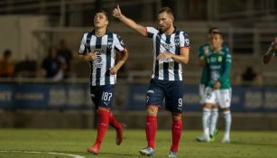
[[[202,74],[199,84],[199,96],[200,96],[200,104],[203,107],[203,116],[202,116],[202,122],[208,122],[208,128],[209,128],[209,135],[210,135],[210,141],[213,142],[217,138],[217,118],[218,118],[218,105],[215,104],[211,107],[211,109],[204,108],[205,103],[205,88],[207,86],[208,81],[208,74],[207,74],[207,65],[206,65],[206,57],[208,54],[212,51],[211,46],[211,37],[213,33],[219,33],[219,29],[217,27],[212,27],[208,30],[208,43],[202,44],[199,47],[199,66],[202,67]],[[229,53],[229,49],[227,48],[226,44],[222,44],[222,49],[224,49],[224,52]],[[205,125],[205,124],[203,124]],[[205,127],[203,126],[203,129]],[[196,138],[199,142],[206,142],[206,138],[204,136],[199,136]]]

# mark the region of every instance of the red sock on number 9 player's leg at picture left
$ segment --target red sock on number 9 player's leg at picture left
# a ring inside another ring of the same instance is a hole
[[[146,139],[148,143],[148,147],[155,148],[155,135],[157,131],[157,116],[147,116],[146,117]]]

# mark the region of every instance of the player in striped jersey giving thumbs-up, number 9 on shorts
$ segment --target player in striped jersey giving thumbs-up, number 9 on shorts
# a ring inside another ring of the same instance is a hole
[[[165,98],[165,107],[171,112],[172,144],[169,157],[177,157],[182,131],[181,113],[183,108],[182,64],[189,61],[189,37],[177,30],[171,8],[163,7],[158,14],[159,29],[144,27],[121,13],[119,6],[113,15],[136,32],[152,39],[153,69],[152,79],[146,94],[146,139],[147,147],[140,153],[152,156],[155,148],[157,114]]]

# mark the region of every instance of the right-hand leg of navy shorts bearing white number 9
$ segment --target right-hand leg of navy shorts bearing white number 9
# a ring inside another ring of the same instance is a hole
[[[164,88],[165,108],[173,113],[181,113],[183,109],[184,84],[181,81],[171,81]]]

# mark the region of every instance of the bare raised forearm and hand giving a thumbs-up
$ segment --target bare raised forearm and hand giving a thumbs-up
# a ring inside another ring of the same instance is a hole
[[[122,14],[119,5],[117,5],[116,8],[113,10],[113,16],[119,19],[122,23],[125,23],[125,25],[129,26],[131,29],[134,29],[136,32],[143,34],[143,36],[146,35],[145,27],[141,24],[135,23],[134,20]]]

